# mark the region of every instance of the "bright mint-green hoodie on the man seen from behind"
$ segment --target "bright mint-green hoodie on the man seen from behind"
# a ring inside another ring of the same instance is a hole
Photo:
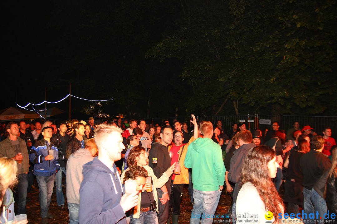
[[[193,188],[215,191],[225,181],[225,166],[220,145],[210,138],[197,138],[189,146],[184,165],[192,168]]]

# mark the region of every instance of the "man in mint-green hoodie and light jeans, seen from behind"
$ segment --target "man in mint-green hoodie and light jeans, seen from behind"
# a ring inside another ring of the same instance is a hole
[[[213,215],[218,206],[225,181],[225,166],[221,147],[211,138],[213,125],[210,121],[200,124],[203,138],[198,138],[189,146],[184,165],[192,168],[194,206],[190,224],[213,223]],[[211,203],[209,203],[211,201]]]

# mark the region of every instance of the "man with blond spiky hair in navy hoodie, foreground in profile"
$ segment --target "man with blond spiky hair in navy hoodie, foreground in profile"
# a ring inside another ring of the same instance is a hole
[[[95,131],[98,156],[83,165],[79,223],[126,223],[125,212],[137,205],[138,192],[123,195],[115,162],[122,158],[122,130],[101,124]]]

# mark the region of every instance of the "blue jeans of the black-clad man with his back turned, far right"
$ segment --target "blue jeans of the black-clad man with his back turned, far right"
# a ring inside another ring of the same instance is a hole
[[[311,220],[309,218],[309,213],[318,212],[318,222],[324,221],[324,214],[327,213],[328,208],[325,202],[325,199],[321,197],[313,188],[312,190],[308,190],[307,188],[303,188],[303,196],[304,196],[304,212],[307,214],[307,217],[302,217],[303,220]],[[316,218],[316,214],[314,214]],[[322,217],[320,219],[320,217]],[[308,221],[309,223],[310,221]]]

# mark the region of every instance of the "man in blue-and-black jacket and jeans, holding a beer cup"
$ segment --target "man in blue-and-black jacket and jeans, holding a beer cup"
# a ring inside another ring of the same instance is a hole
[[[48,219],[54,216],[48,212],[52,197],[55,174],[60,169],[57,161],[58,150],[50,143],[53,135],[51,127],[44,127],[41,131],[43,139],[37,141],[29,152],[29,160],[34,164],[34,175],[39,185],[39,200],[42,224],[48,224]],[[54,149],[53,151],[49,151]]]

